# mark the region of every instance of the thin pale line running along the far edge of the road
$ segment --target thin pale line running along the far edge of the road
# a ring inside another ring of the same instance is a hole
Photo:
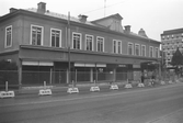
[[[178,85],[175,85],[175,86],[178,86]],[[127,92],[101,94],[101,96],[90,96],[90,97],[79,97],[79,98],[71,98],[71,99],[59,99],[59,100],[47,100],[47,101],[37,101],[37,102],[25,102],[25,103],[5,104],[5,105],[0,105],[0,108],[3,108],[3,107],[14,107],[14,105],[27,105],[27,104],[41,104],[41,103],[50,103],[50,102],[65,102],[65,101],[75,101],[75,100],[92,99],[92,98],[105,98],[105,97],[111,97],[111,96],[119,96],[119,94],[134,93],[134,92],[144,92],[144,91],[149,91],[149,90],[155,90],[155,89],[158,90],[158,89],[170,88],[170,87],[174,87],[174,85],[159,87],[159,88],[149,88],[149,89],[145,89],[145,90],[134,90],[134,91],[127,91]]]

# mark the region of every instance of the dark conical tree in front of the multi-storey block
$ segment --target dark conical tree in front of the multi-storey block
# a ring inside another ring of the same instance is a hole
[[[179,67],[183,65],[183,55],[179,48],[176,48],[175,53],[173,54],[173,57],[170,64],[175,67],[175,72],[178,74]]]

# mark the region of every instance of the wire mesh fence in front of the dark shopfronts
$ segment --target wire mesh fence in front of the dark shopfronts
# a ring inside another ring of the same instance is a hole
[[[158,78],[158,77],[157,77]],[[163,72],[160,79],[174,80],[175,75]],[[96,82],[123,82],[126,80],[140,80],[140,75],[135,76],[134,72],[91,72],[91,71],[71,71],[70,82],[77,83],[91,83]],[[10,88],[19,88],[19,72],[18,70],[0,70],[0,89],[4,88],[5,81],[9,81]],[[22,85],[23,86],[41,86],[46,81],[47,85],[68,85],[67,71],[23,71]]]

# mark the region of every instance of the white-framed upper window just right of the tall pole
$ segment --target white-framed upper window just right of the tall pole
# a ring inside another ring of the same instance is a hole
[[[81,49],[81,34],[72,33],[72,48]]]

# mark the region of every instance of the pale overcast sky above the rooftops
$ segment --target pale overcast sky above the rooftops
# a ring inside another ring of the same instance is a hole
[[[118,13],[123,26],[130,25],[134,33],[144,29],[149,38],[157,41],[161,41],[163,31],[183,27],[183,0],[0,0],[0,16],[10,8],[37,8],[41,1],[52,12],[84,14],[88,21]]]

